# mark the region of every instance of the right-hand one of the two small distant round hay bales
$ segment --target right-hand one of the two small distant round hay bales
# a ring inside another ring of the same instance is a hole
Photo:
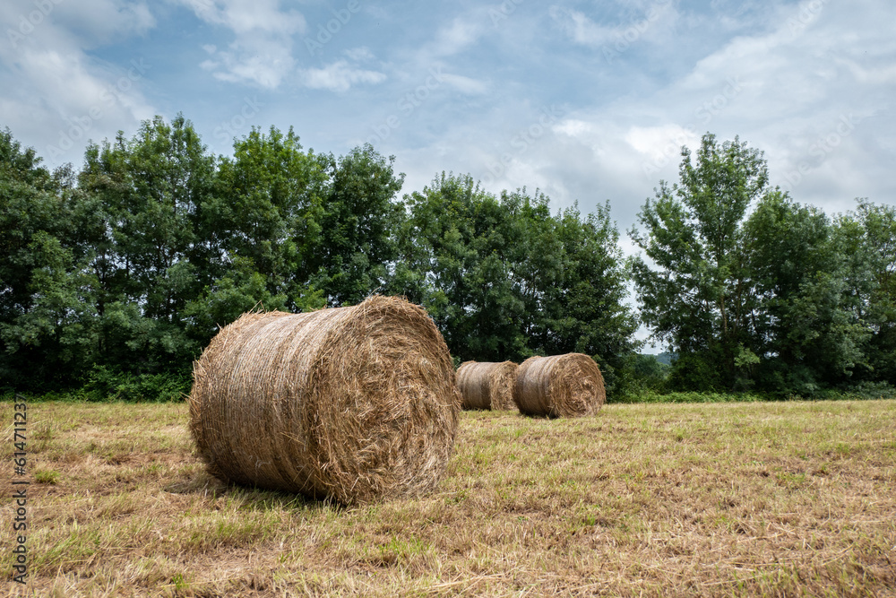
[[[598,364],[582,353],[530,357],[516,370],[513,401],[521,413],[575,417],[598,411],[606,400]]]

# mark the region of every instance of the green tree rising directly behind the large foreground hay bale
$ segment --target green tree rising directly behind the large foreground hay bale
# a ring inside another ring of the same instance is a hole
[[[321,242],[324,181],[318,158],[302,150],[292,128],[253,128],[234,140],[234,156],[220,160],[214,193],[199,211],[202,255],[194,261],[209,274],[184,312],[197,342],[204,346],[219,326],[253,309],[323,307],[322,291],[308,281]]]

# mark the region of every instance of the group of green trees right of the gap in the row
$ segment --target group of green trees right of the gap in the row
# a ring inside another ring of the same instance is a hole
[[[812,395],[892,380],[892,210],[860,202],[831,221],[769,188],[762,153],[737,138],[705,135],[679,174],[631,232],[642,320],[678,354],[670,386]]]

